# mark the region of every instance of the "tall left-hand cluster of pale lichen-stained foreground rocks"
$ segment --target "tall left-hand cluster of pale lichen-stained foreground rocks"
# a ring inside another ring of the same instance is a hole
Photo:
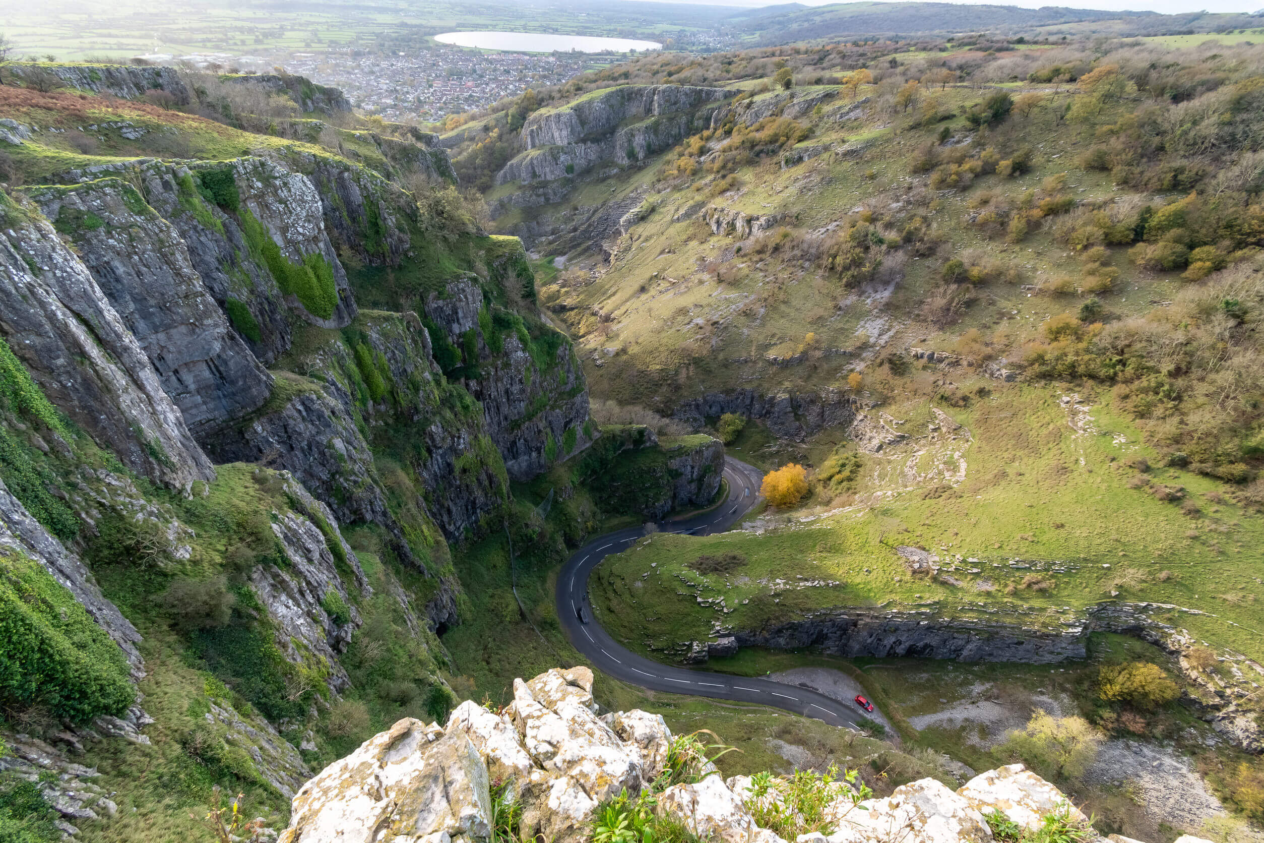
[[[586,667],[551,670],[514,680],[502,714],[463,703],[445,728],[399,720],[303,785],[281,840],[369,843],[383,829],[487,840],[490,768],[516,795],[523,837],[579,843],[600,801],[653,781],[671,737],[661,717],[641,712],[623,715],[619,734],[597,717],[592,689]]]

